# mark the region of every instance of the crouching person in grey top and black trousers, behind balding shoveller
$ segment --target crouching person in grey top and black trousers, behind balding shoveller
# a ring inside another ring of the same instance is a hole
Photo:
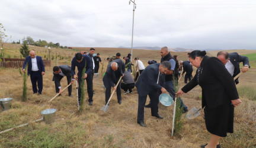
[[[135,86],[135,81],[133,80],[130,72],[125,71],[122,79],[123,82],[121,83],[121,89],[124,90],[124,94],[127,94],[129,92],[130,94],[132,94],[132,89]]]

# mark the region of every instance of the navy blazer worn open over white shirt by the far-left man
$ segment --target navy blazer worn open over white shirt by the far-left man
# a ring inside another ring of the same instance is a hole
[[[37,67],[39,69],[39,72],[45,72],[44,70],[44,64],[43,64],[43,60],[41,59],[40,56],[36,56],[37,59]],[[31,62],[31,57],[27,56],[25,59],[25,62],[23,64],[23,69],[25,69],[25,65],[28,63],[28,72],[27,75],[30,75],[31,69],[32,69],[32,62]]]

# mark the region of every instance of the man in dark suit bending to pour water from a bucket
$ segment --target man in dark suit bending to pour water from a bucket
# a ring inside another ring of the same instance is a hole
[[[137,123],[146,127],[144,123],[144,105],[147,95],[151,99],[151,115],[157,118],[163,118],[158,114],[159,95],[167,92],[165,86],[165,74],[171,70],[171,63],[164,61],[161,64],[155,63],[149,65],[140,74],[135,86],[139,94],[139,105],[137,112]]]

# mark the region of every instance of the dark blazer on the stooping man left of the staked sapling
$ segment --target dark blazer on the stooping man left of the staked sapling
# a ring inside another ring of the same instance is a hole
[[[71,73],[71,66],[68,66],[68,65],[60,65],[60,70],[62,71],[62,73],[64,75],[66,75],[67,77],[71,77],[72,76],[72,73]],[[60,86],[60,80],[63,78],[63,76],[59,75],[59,74],[55,74],[53,72],[53,81],[56,82],[56,85],[57,87]]]

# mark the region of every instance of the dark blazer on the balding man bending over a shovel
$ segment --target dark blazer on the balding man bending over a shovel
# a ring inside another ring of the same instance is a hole
[[[114,70],[111,69],[111,63],[116,62],[120,75],[116,78]],[[103,77],[103,83],[105,88],[114,87],[115,84],[119,81],[120,76],[123,75],[125,72],[125,64],[121,59],[113,60],[112,62],[108,63],[107,70],[105,72],[105,76]]]

